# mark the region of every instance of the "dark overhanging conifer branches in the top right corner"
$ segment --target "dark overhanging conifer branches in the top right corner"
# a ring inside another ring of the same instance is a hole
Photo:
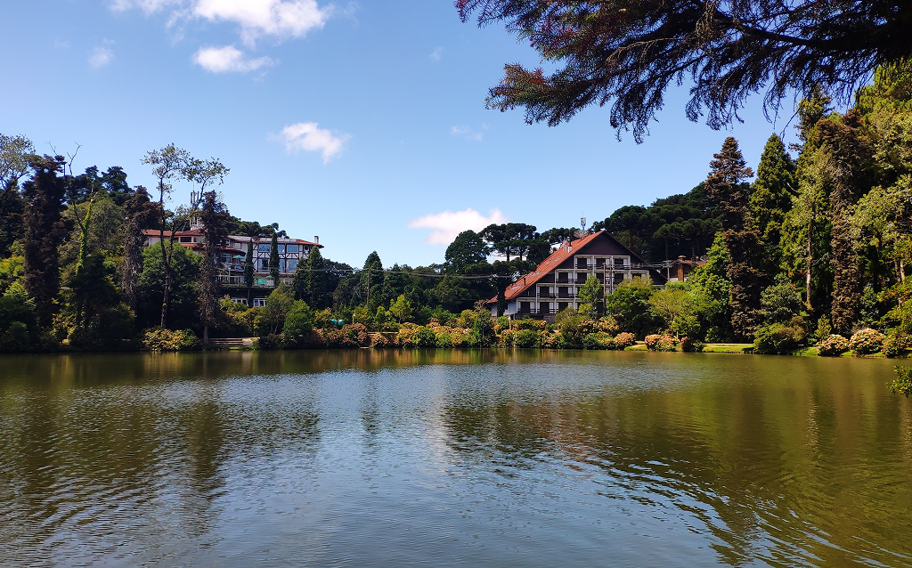
[[[814,85],[848,98],[878,65],[912,57],[912,4],[894,0],[457,0],[463,21],[503,22],[558,67],[507,65],[488,105],[556,125],[590,104],[641,139],[668,85],[690,81],[687,115],[711,127],[752,93],[767,110]]]

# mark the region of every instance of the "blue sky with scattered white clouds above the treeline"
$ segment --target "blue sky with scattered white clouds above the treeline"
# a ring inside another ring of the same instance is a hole
[[[442,262],[461,229],[544,231],[688,191],[726,136],[755,167],[785,122],[764,119],[757,96],[743,124],[713,131],[685,118],[679,88],[640,145],[615,139],[606,108],[526,125],[484,97],[504,63],[538,57],[501,26],[462,24],[450,0],[30,0],[2,11],[0,132],[42,152],[78,142],[78,169],[119,165],[150,188],[147,150],[173,142],[217,157],[232,170],[221,191],[233,214],[319,235],[327,257],[358,266],[373,250],[385,265]]]

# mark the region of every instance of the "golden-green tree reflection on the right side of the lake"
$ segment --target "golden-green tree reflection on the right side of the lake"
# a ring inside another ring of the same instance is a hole
[[[893,519],[908,521],[912,506],[908,408],[845,370],[760,365],[772,368],[749,370],[776,384],[451,393],[443,421],[455,460],[506,473],[557,461],[571,478],[598,471],[607,500],[687,511],[693,530],[715,537],[722,563],[907,562],[912,547]]]

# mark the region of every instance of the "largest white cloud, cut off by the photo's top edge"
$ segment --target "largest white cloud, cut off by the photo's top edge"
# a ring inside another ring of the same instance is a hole
[[[304,36],[323,27],[333,11],[332,5],[320,7],[316,0],[112,0],[110,7],[139,8],[146,14],[171,9],[171,23],[192,17],[233,22],[241,26],[241,39],[250,46],[260,36]]]

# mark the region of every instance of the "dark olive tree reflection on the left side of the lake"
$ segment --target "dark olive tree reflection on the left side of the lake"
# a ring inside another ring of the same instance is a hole
[[[18,560],[205,545],[221,538],[212,529],[227,471],[276,459],[306,475],[315,460],[306,388],[294,398],[281,385],[239,392],[214,378],[230,367],[206,356],[110,357],[36,357],[21,376],[0,377],[0,545],[42,555]],[[181,378],[191,372],[201,378]]]

